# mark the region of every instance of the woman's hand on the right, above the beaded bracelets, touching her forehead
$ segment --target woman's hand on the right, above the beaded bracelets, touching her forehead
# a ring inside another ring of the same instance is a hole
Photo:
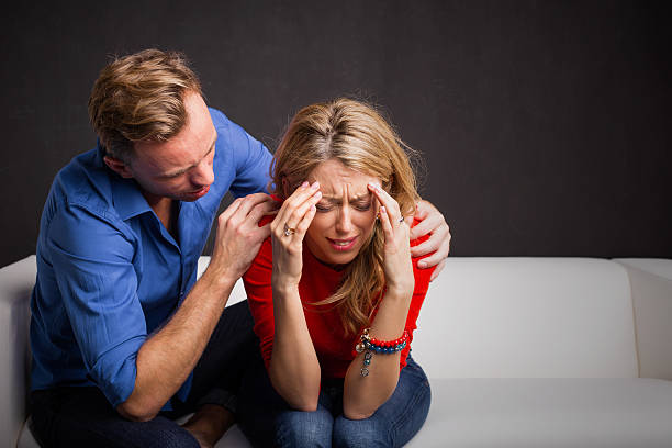
[[[385,237],[383,271],[388,292],[411,300],[415,287],[410,236],[413,216],[404,217],[399,209],[399,203],[379,186],[369,183],[369,190],[381,204],[379,216]]]

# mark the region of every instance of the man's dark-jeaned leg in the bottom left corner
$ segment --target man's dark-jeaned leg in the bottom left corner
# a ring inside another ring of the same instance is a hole
[[[98,388],[56,388],[31,394],[35,438],[43,447],[198,448],[184,428],[164,416],[122,418]]]

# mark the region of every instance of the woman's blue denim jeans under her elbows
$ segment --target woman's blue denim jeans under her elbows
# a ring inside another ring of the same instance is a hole
[[[343,380],[322,383],[317,410],[294,411],[273,390],[261,365],[243,380],[238,425],[255,447],[401,447],[419,430],[432,393],[408,356],[392,396],[369,418],[343,415]]]

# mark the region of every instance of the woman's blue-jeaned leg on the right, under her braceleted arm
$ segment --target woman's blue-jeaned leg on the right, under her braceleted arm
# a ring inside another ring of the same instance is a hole
[[[423,369],[408,356],[392,396],[369,418],[334,422],[335,447],[401,447],[427,418],[432,392]]]

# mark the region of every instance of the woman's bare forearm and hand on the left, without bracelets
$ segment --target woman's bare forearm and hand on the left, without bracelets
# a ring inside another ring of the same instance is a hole
[[[318,188],[304,182],[271,223],[275,336],[268,373],[280,396],[300,411],[315,411],[320,396],[320,362],[299,296],[303,237],[322,197]]]

